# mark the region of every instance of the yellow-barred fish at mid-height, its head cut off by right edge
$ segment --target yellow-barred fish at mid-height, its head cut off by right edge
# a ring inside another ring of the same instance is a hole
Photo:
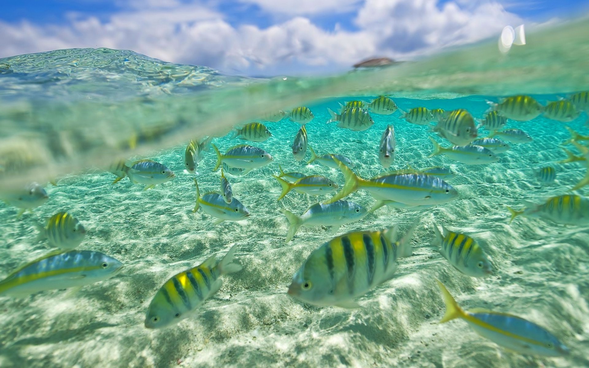
[[[589,199],[581,195],[558,195],[548,198],[542,204],[528,201],[524,201],[524,204],[524,209],[519,211],[507,207],[511,212],[510,224],[517,216],[542,218],[564,225],[589,224]]]

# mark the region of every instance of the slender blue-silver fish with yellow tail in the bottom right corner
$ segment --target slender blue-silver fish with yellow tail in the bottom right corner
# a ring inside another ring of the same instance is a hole
[[[485,309],[462,310],[444,284],[439,280],[436,281],[446,304],[446,313],[439,323],[456,318],[463,319],[480,336],[521,354],[540,356],[569,354],[568,348],[558,341],[557,337],[521,317]]]

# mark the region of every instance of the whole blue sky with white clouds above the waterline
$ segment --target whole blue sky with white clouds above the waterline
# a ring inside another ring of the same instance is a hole
[[[0,0],[0,58],[131,49],[226,74],[339,72],[580,16],[589,0]]]

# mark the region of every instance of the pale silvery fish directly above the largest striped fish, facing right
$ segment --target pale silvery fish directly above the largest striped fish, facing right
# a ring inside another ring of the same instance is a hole
[[[290,211],[280,209],[289,220],[289,232],[284,243],[294,237],[299,227],[329,226],[334,234],[340,226],[362,220],[368,213],[361,205],[346,200],[335,201],[330,204],[315,203],[301,215],[296,216]]]

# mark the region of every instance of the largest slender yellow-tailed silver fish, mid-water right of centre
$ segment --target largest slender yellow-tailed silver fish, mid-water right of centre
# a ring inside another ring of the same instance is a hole
[[[369,180],[354,174],[337,161],[346,179],[342,190],[324,204],[333,203],[357,190],[368,191],[376,200],[391,200],[409,205],[443,204],[458,197],[458,191],[444,180],[426,174],[383,173]]]

